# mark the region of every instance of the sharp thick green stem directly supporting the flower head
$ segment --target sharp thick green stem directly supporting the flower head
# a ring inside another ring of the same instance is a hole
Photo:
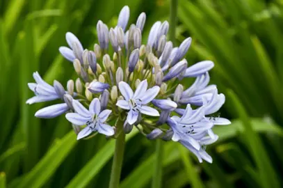
[[[119,187],[123,156],[124,156],[125,134],[123,130],[123,122],[121,120],[118,120],[116,127],[117,127],[117,132],[120,134],[118,135],[115,143],[115,153],[113,157],[109,188]]]

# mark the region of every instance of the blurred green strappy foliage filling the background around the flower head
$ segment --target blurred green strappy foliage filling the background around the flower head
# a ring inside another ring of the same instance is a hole
[[[213,164],[199,164],[178,143],[164,144],[162,187],[283,187],[283,1],[179,0],[177,43],[191,36],[189,64],[213,60],[211,83],[226,95]],[[34,117],[45,104],[25,104],[38,70],[48,83],[66,83],[72,64],[58,47],[72,31],[84,47],[97,42],[99,19],[115,26],[128,5],[130,22],[147,14],[169,18],[167,0],[0,1],[0,187],[108,187],[114,141],[97,135],[76,141],[60,116]],[[73,77],[74,78],[74,77]],[[193,81],[193,79],[192,79]],[[154,141],[131,132],[120,187],[150,187]]]

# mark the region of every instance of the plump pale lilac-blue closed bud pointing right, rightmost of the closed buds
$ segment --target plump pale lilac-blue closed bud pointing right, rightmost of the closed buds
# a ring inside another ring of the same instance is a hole
[[[195,65],[191,65],[191,67],[186,69],[184,77],[198,77],[211,70],[213,67],[214,63],[212,61],[201,61],[199,63],[195,63]]]

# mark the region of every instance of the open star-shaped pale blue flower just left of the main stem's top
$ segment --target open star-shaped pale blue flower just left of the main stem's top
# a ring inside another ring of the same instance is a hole
[[[100,111],[100,102],[98,98],[95,98],[90,102],[89,110],[77,101],[72,102],[76,113],[67,113],[66,118],[74,125],[87,125],[81,132],[79,132],[77,139],[82,139],[88,136],[92,132],[99,132],[106,136],[112,136],[115,134],[113,127],[107,125],[105,122],[112,112],[111,110]]]

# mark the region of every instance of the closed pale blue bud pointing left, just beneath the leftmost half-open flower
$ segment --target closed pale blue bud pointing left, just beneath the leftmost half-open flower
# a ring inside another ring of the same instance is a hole
[[[57,116],[60,116],[62,113],[65,113],[69,110],[69,107],[67,104],[54,104],[49,107],[45,107],[43,109],[40,109],[35,113],[35,117],[38,118],[55,118]]]

